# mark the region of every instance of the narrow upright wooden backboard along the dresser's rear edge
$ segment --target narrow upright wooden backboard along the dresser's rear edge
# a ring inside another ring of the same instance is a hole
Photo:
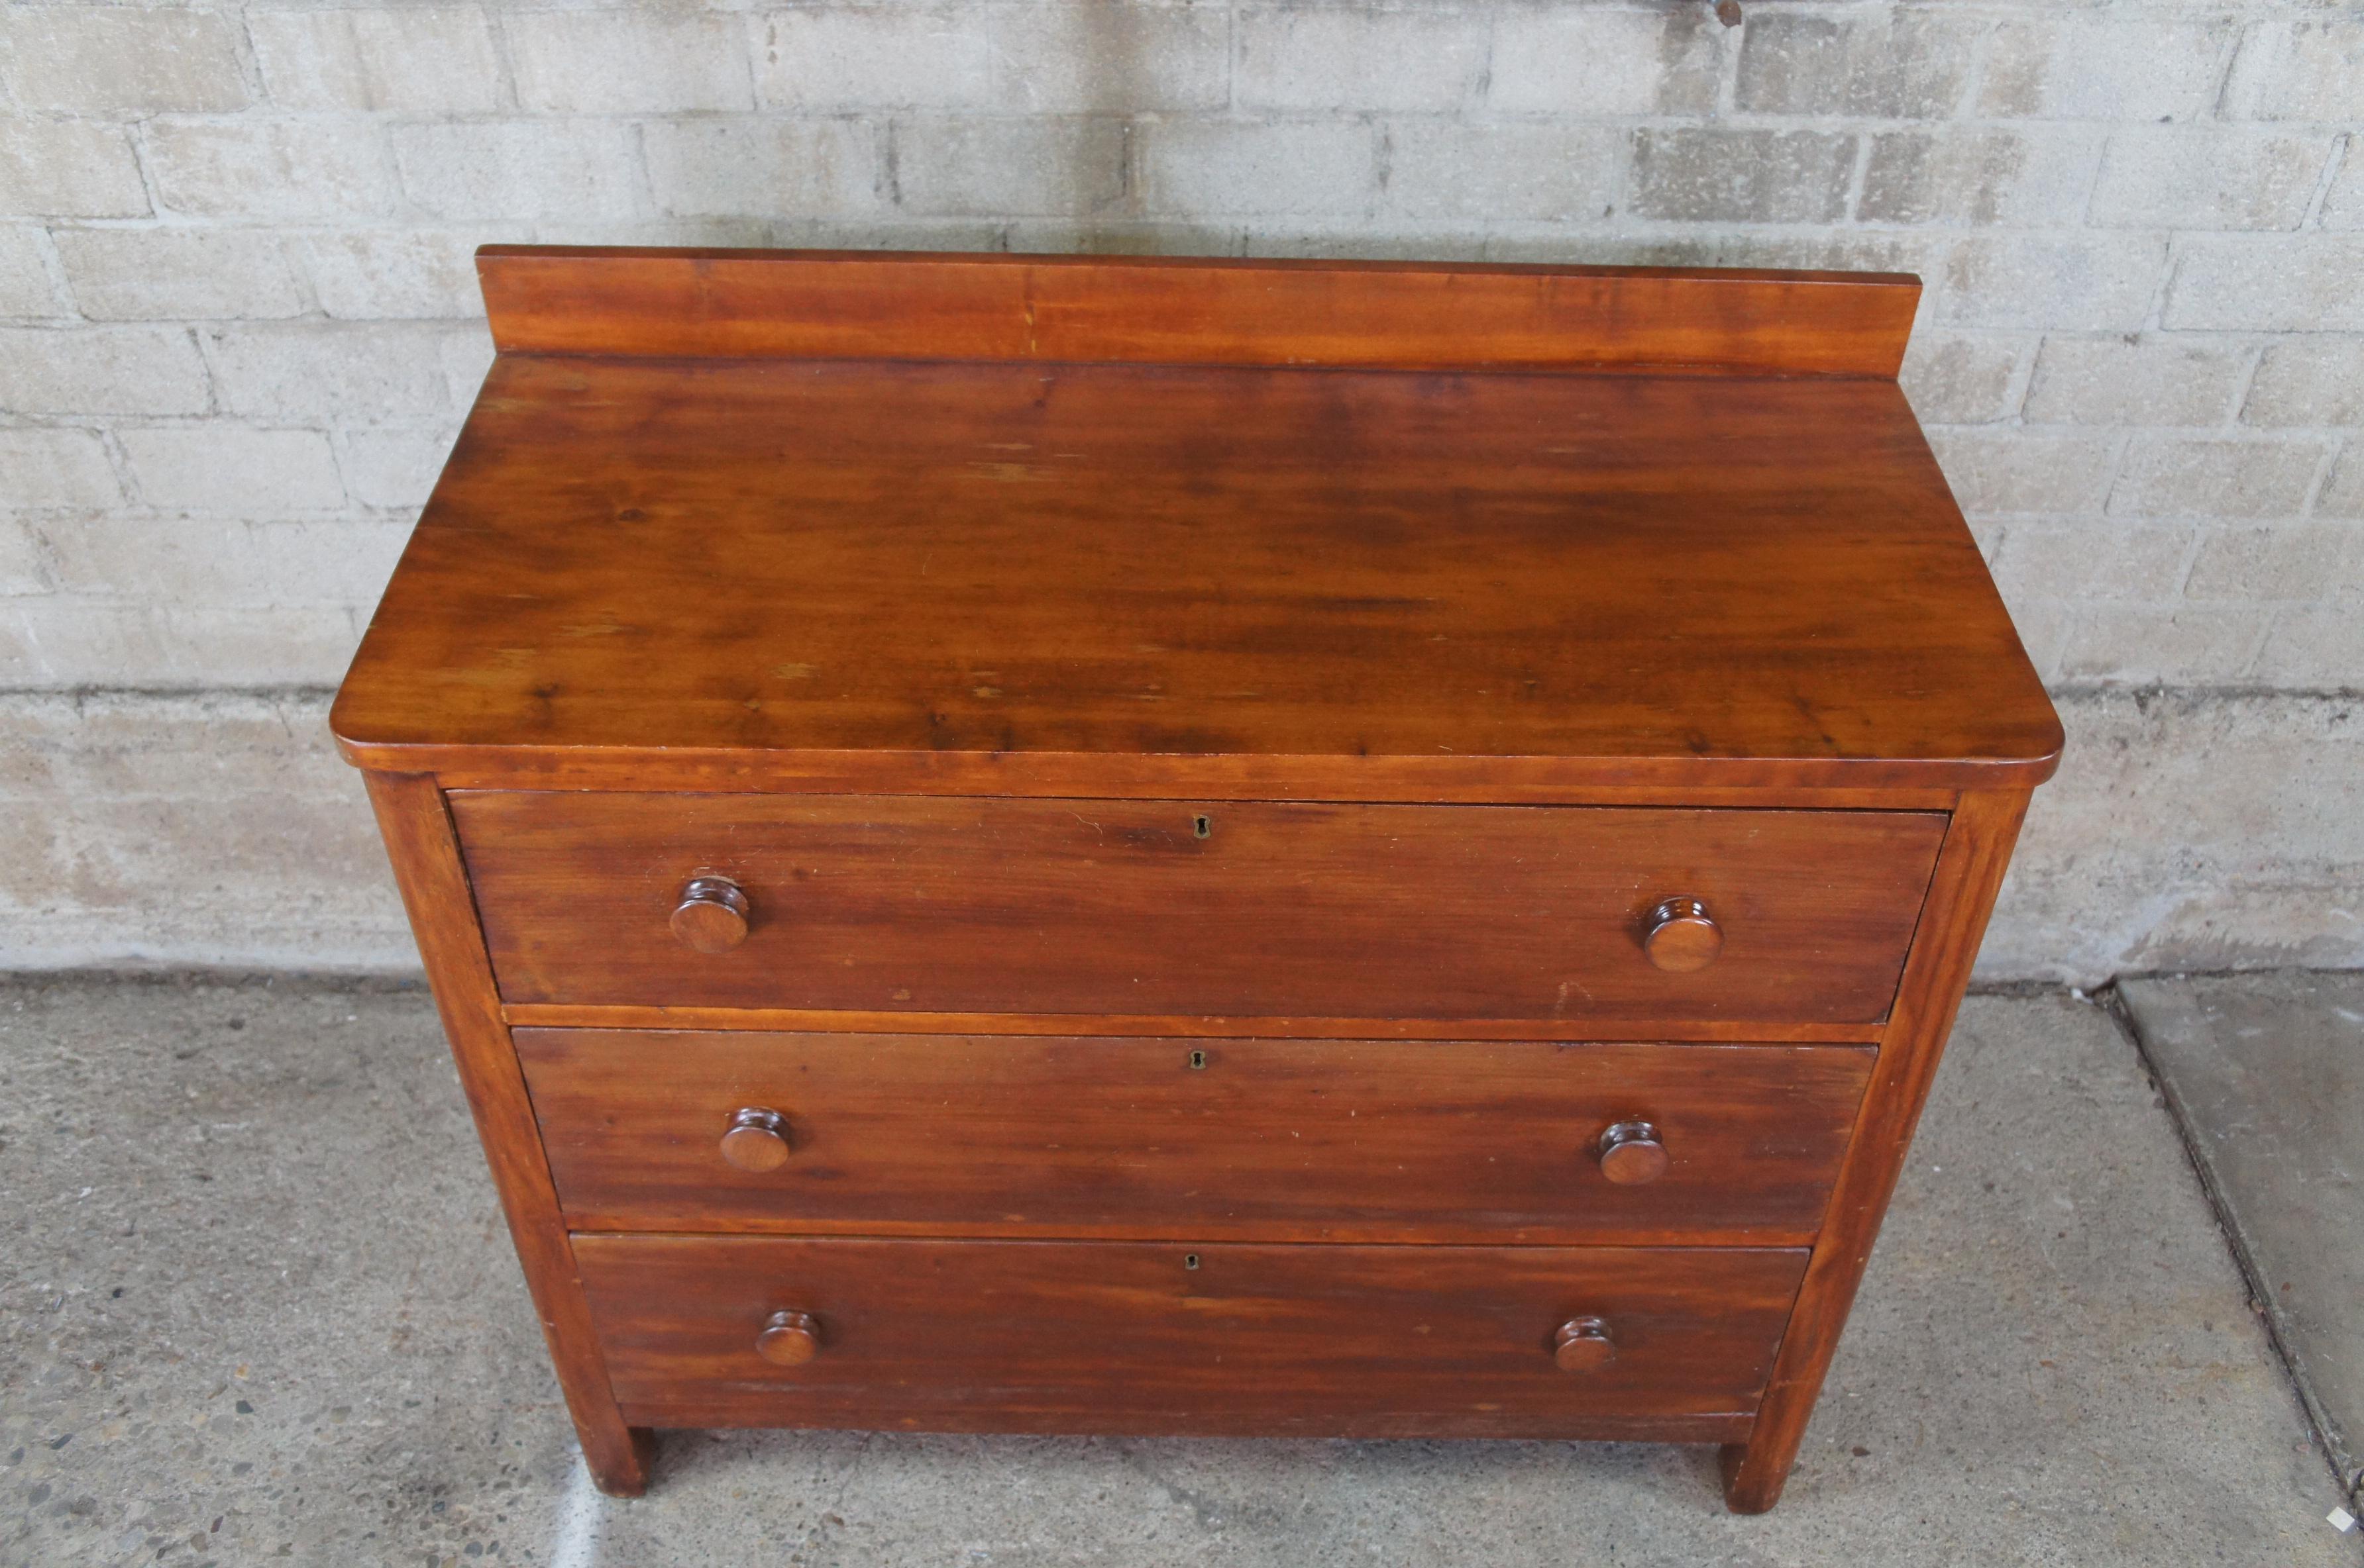
[[[485,246],[504,354],[1884,375],[1920,279],[1470,262]]]

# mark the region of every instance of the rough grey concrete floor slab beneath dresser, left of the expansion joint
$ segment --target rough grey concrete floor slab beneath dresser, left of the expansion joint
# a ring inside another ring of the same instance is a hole
[[[1979,997],[1790,1495],[1707,1450],[669,1433],[596,1497],[418,992],[0,992],[0,1563],[2364,1563],[2158,1093]]]

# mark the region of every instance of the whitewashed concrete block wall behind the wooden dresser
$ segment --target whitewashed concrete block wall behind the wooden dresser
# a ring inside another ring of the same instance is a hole
[[[2364,5],[0,12],[0,963],[407,966],[324,694],[485,241],[1908,269],[2071,727],[1995,978],[2364,963]]]

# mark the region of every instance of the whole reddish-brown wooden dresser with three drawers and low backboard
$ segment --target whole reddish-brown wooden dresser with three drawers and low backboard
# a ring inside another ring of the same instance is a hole
[[[1780,1495],[2061,732],[1905,276],[489,248],[336,704],[591,1474]]]

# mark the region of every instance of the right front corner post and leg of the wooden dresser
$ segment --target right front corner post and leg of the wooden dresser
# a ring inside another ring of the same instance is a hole
[[[1896,1015],[1879,1048],[1879,1067],[1863,1096],[1839,1185],[1823,1221],[1813,1261],[1782,1339],[1764,1412],[1745,1445],[1723,1450],[1723,1497],[1735,1514],[1764,1514],[1780,1500],[1806,1419],[1823,1391],[1830,1358],[1856,1301],[1863,1266],[1879,1240],[1896,1176],[1912,1148],[1929,1084],[1936,1082],[1946,1037],[1969,985],[1969,966],[1986,935],[1986,916],[2002,888],[2002,871],[2028,810],[2026,793],[1967,796],[1946,834],[1929,890],[1931,919],[1912,945]]]

